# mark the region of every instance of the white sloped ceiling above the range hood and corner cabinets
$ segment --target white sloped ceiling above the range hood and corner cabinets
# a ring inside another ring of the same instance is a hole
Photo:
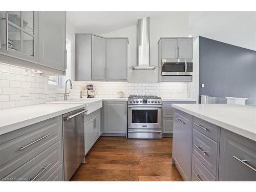
[[[175,11],[67,11],[77,33],[104,34],[131,27],[146,16],[161,17]]]

